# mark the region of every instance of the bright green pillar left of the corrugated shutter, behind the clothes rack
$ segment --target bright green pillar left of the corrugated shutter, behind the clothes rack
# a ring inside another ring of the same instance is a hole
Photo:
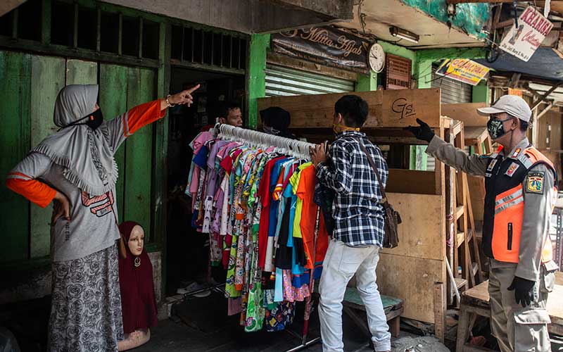
[[[258,98],[266,95],[266,53],[270,47],[270,34],[252,34],[248,49],[248,121],[249,128],[258,125]]]

